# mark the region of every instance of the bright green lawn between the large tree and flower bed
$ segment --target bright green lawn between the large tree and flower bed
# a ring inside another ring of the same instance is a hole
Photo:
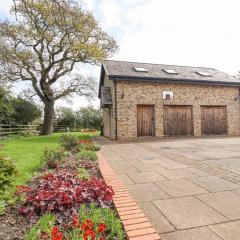
[[[10,157],[16,164],[19,176],[16,185],[24,184],[31,178],[34,171],[41,165],[41,156],[45,148],[56,148],[59,146],[59,138],[63,133],[54,133],[51,136],[25,137],[20,139],[9,139],[0,141],[4,144],[4,154]],[[90,138],[96,132],[72,133],[80,138]]]

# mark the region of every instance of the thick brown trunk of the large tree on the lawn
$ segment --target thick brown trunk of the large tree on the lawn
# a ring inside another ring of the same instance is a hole
[[[53,133],[53,121],[54,121],[54,101],[45,103],[44,106],[44,121],[42,128],[42,135],[51,135]]]

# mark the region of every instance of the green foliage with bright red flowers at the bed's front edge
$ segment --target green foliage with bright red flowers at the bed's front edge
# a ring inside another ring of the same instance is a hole
[[[97,208],[95,204],[91,204],[89,208],[83,204],[78,214],[72,216],[71,224],[64,227],[57,227],[55,224],[56,219],[53,216],[43,216],[27,234],[26,240],[126,239],[116,213],[111,209]]]

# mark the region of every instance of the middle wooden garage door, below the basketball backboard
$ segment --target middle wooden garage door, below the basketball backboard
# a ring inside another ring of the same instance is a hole
[[[164,135],[193,135],[192,106],[164,106]]]

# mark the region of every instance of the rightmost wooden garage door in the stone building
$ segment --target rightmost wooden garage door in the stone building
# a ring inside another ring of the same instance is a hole
[[[227,134],[227,108],[220,106],[201,107],[203,135]]]

